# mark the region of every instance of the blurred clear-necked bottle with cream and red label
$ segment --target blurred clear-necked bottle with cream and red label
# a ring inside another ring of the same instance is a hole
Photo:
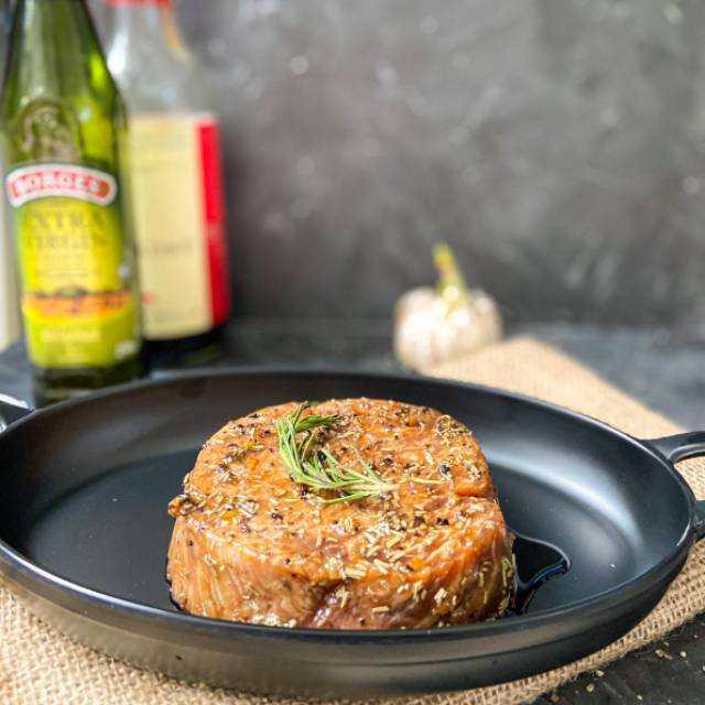
[[[218,352],[230,311],[218,118],[171,0],[108,0],[106,56],[130,116],[142,333],[155,366]]]

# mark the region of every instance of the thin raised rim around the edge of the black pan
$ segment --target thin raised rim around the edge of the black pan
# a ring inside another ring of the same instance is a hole
[[[243,377],[252,378],[256,376],[276,377],[276,376],[338,376],[345,378],[360,379],[379,379],[392,382],[412,382],[421,384],[434,384],[447,388],[469,389],[480,393],[494,394],[502,397],[506,400],[528,404],[530,406],[540,408],[543,411],[568,417],[578,424],[586,424],[596,429],[601,433],[616,436],[619,441],[638,447],[641,452],[651,456],[657,462],[662,471],[665,471],[672,480],[674,480],[681,490],[683,499],[690,510],[688,516],[684,517],[684,531],[677,543],[673,546],[670,554],[664,555],[651,568],[638,575],[634,578],[620,583],[607,590],[603,590],[593,596],[585,597],[575,603],[570,603],[561,607],[554,607],[541,610],[535,614],[521,615],[508,619],[495,621],[475,622],[469,625],[458,625],[453,627],[444,627],[442,629],[410,629],[410,630],[330,630],[314,628],[285,628],[271,627],[265,625],[252,625],[249,622],[228,621],[200,617],[185,612],[170,611],[160,607],[132,601],[122,597],[109,595],[95,590],[88,586],[74,583],[68,578],[63,578],[51,571],[42,568],[24,556],[19,551],[10,546],[6,541],[0,539],[0,573],[4,573],[9,581],[19,583],[29,592],[40,595],[44,599],[48,599],[54,604],[59,604],[56,599],[48,597],[45,593],[52,589],[59,589],[63,594],[73,596],[94,609],[107,609],[112,614],[120,612],[124,617],[138,619],[143,623],[153,627],[172,628],[175,633],[187,633],[195,631],[203,636],[218,637],[224,639],[232,639],[235,637],[246,637],[248,639],[270,640],[284,639],[286,641],[301,641],[308,643],[333,644],[333,643],[355,643],[361,646],[389,644],[394,642],[401,643],[434,643],[437,641],[459,641],[471,638],[494,638],[509,636],[517,631],[525,629],[538,629],[550,625],[561,623],[570,618],[585,618],[595,612],[603,612],[608,609],[617,608],[622,604],[629,603],[636,596],[647,593],[659,579],[668,575],[679,563],[684,560],[685,553],[690,550],[693,538],[693,516],[695,510],[695,497],[692,489],[675,469],[675,466],[663,457],[654,447],[650,446],[647,441],[636,438],[609,424],[576,412],[572,409],[535,399],[528,394],[511,392],[485,384],[476,384],[473,382],[462,382],[456,380],[447,380],[443,378],[434,378],[421,375],[412,375],[406,372],[383,372],[376,370],[351,369],[337,366],[228,366],[216,368],[199,368],[197,370],[178,371],[167,376],[138,380],[111,387],[109,389],[93,392],[89,395],[73,399],[69,401],[55,404],[45,409],[41,409],[29,413],[23,419],[14,422],[8,429],[0,433],[0,444],[9,436],[13,435],[21,427],[35,423],[37,419],[63,413],[75,406],[85,406],[86,404],[121,397],[132,392],[149,391],[158,387],[167,387],[180,381],[208,381],[219,377]],[[20,577],[21,576],[21,577]],[[19,579],[18,579],[19,578]],[[37,584],[44,590],[34,589]],[[86,615],[88,618],[90,616]],[[98,617],[96,621],[101,621]],[[303,654],[301,654],[303,657]],[[446,660],[446,659],[426,659],[424,661]]]

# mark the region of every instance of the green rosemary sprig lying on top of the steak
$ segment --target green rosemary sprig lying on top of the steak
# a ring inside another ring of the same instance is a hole
[[[303,402],[291,415],[276,422],[279,453],[295,482],[317,491],[339,492],[334,499],[318,498],[323,505],[378,497],[397,489],[395,485],[384,482],[370,465],[365,463],[357,448],[355,453],[361,469],[344,465],[326,447],[312,449],[318,433],[324,429],[334,427],[340,417],[311,414],[302,419],[301,414],[310,405],[308,402]],[[299,440],[301,433],[303,437]]]

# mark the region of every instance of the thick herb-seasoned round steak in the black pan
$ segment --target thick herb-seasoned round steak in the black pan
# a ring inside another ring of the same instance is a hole
[[[276,422],[296,409],[269,406],[226,424],[170,503],[167,579],[182,609],[324,629],[443,627],[505,611],[512,538],[465,425],[397,401],[308,406],[302,419],[337,422],[307,452],[368,467],[388,488],[351,499],[292,479]]]

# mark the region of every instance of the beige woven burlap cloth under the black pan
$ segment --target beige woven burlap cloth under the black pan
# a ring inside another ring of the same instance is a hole
[[[530,339],[487,348],[432,370],[544,399],[595,416],[640,437],[679,431],[557,350]],[[705,497],[705,462],[680,469]],[[514,705],[533,701],[583,671],[597,669],[665,634],[705,609],[705,542],[695,546],[659,606],[631,632],[603,651],[541,675],[463,693],[390,699],[390,704]],[[276,668],[272,664],[272,668]],[[0,703],[2,705],[260,705],[264,697],[188,685],[140,671],[75,643],[40,622],[0,586]],[[294,703],[296,701],[291,701]]]

